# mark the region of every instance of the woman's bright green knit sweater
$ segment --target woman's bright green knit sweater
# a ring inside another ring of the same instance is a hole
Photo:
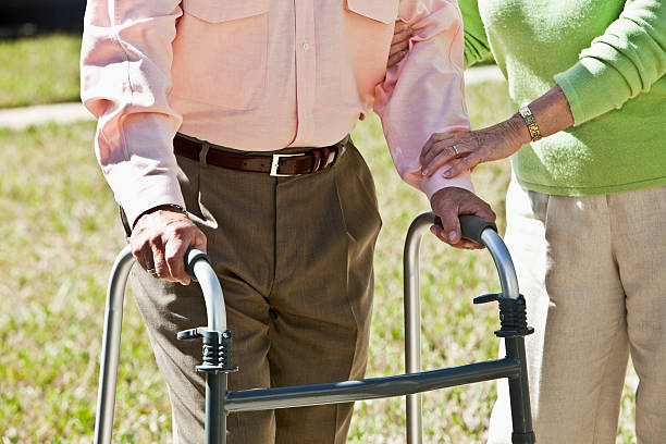
[[[666,1],[459,0],[465,62],[490,53],[510,110],[555,82],[575,125],[523,146],[518,182],[582,196],[666,185]]]

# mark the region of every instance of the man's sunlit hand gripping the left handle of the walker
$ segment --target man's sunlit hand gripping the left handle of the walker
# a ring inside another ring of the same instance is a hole
[[[130,245],[139,266],[155,278],[187,285],[185,251],[187,247],[206,251],[206,235],[187,214],[164,209],[139,218]]]

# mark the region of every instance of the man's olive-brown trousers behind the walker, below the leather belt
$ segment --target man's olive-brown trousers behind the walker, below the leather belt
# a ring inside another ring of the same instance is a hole
[[[289,152],[294,150],[283,150]],[[381,220],[374,184],[349,141],[334,166],[271,177],[178,158],[190,218],[208,238],[233,334],[230,390],[363,377],[372,306],[372,256]],[[196,284],[134,268],[134,294],[172,404],[174,442],[203,442],[206,325]],[[353,405],[231,415],[229,443],[343,443]]]

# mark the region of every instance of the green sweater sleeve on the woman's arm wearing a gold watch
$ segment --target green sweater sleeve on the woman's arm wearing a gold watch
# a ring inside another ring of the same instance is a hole
[[[648,92],[665,72],[666,2],[633,0],[555,82],[579,125]]]

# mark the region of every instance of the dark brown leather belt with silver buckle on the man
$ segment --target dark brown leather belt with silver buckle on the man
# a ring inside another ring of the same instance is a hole
[[[269,173],[272,176],[311,174],[335,163],[345,150],[348,136],[335,145],[322,148],[304,148],[304,152],[246,156],[215,149],[214,145],[190,140],[176,134],[173,151],[187,159],[231,170]],[[208,146],[208,150],[203,148]]]

